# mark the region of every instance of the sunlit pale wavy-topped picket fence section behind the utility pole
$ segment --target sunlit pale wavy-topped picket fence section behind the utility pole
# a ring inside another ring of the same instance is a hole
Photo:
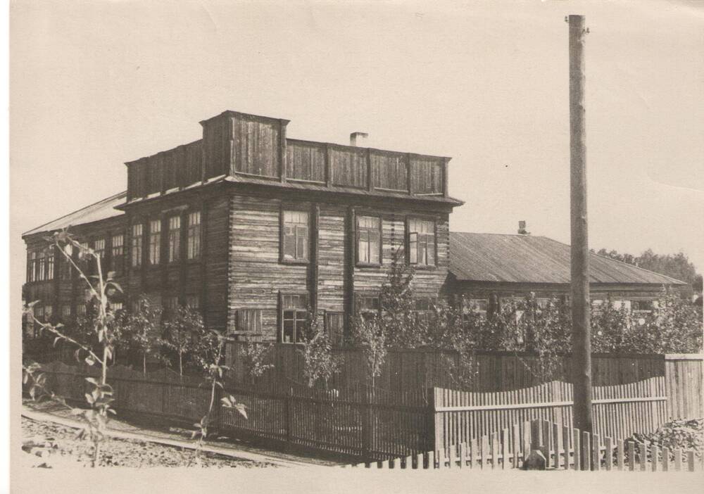
[[[515,391],[473,393],[433,389],[435,449],[470,443],[512,424],[546,419],[572,427],[572,384],[552,381]],[[652,432],[667,422],[665,379],[651,377],[631,384],[593,386],[594,431],[625,439]]]

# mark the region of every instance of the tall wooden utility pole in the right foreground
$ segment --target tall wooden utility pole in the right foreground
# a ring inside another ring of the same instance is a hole
[[[574,427],[592,432],[589,241],[586,225],[584,15],[570,15],[570,224],[572,244],[572,383]]]

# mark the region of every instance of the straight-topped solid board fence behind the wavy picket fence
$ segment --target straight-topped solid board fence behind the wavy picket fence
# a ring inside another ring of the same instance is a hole
[[[233,368],[233,379],[246,379],[241,348],[246,343],[230,343],[228,363]],[[341,362],[340,370],[329,381],[329,387],[347,388],[368,384],[367,367],[363,351],[359,348],[337,348],[334,355]],[[545,384],[546,381],[571,381],[570,355],[562,355],[551,375],[540,369],[535,355],[520,352],[477,352],[473,357],[474,378],[463,391],[474,393],[519,392]],[[389,350],[382,374],[375,379],[375,386],[391,391],[417,391],[433,387],[460,389],[453,380],[452,368],[458,363],[455,352],[434,348]],[[651,378],[664,379],[667,396],[665,417],[668,419],[696,419],[704,417],[703,372],[701,354],[678,355],[592,355],[592,384],[595,392],[628,392],[629,386]],[[257,379],[258,384],[270,384],[290,378],[304,381],[303,357],[296,345],[272,344],[267,362],[274,367]],[[613,388],[607,386],[627,386]],[[600,389],[601,388],[601,389]],[[615,395],[616,398],[624,398]],[[600,399],[612,398],[603,395]]]

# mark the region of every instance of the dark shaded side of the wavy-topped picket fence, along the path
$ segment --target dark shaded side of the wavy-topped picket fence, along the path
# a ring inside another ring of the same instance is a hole
[[[47,388],[79,403],[84,403],[84,393],[91,387],[85,378],[99,374],[92,367],[63,362],[44,364],[42,372]],[[118,412],[192,424],[200,421],[210,403],[208,384],[168,369],[144,376],[115,365],[108,368],[108,383]],[[215,393],[211,427],[233,436],[379,459],[415,454],[433,444],[426,391],[394,393],[370,386],[326,391],[284,381],[249,387],[226,383]],[[246,419],[219,406],[225,395],[246,406]]]

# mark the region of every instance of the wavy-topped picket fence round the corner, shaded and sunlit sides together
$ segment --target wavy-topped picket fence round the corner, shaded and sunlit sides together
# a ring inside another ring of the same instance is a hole
[[[47,386],[79,402],[90,391],[92,367],[62,362],[42,365]],[[151,414],[187,424],[208,409],[210,386],[201,379],[164,369],[144,376],[121,365],[108,368],[118,412]],[[572,385],[553,381],[513,391],[478,393],[430,388],[415,392],[384,391],[358,385],[342,389],[308,388],[295,381],[245,386],[226,382],[216,388],[247,408],[244,419],[216,406],[212,424],[233,436],[302,445],[366,459],[385,460],[448,450],[483,436],[501,433],[532,419],[572,426]],[[595,386],[594,426],[601,436],[625,439],[635,432],[655,431],[667,422],[665,379],[651,377],[617,386]],[[520,429],[520,435],[525,431]]]

